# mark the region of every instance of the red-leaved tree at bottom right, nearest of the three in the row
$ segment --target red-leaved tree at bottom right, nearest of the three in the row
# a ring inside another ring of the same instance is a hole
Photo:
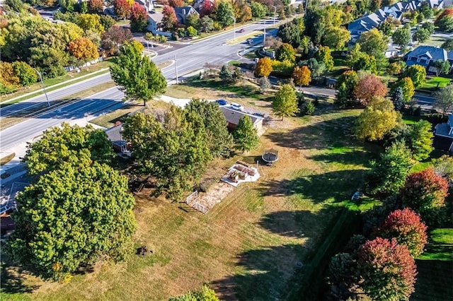
[[[362,245],[357,261],[360,286],[372,300],[409,300],[417,271],[408,247],[377,237]]]

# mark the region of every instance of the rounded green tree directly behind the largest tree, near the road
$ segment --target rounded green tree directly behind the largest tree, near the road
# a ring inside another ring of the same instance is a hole
[[[23,160],[30,175],[39,175],[59,169],[64,162],[110,164],[114,156],[103,130],[63,123],[61,127],[46,130],[35,143],[28,143]]]

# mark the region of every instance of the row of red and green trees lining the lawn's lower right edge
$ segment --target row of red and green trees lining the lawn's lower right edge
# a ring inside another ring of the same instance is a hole
[[[331,294],[341,299],[365,293],[373,300],[408,300],[414,290],[414,258],[423,253],[426,230],[444,225],[451,158],[433,160],[434,168],[409,173],[411,150],[404,141],[386,148],[372,162],[367,190],[384,205],[364,217],[362,235],[329,266]],[[426,223],[426,225],[425,225]]]

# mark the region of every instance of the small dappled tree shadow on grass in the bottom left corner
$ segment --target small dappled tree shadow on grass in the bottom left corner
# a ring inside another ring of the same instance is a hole
[[[2,255],[4,256],[4,255]],[[31,274],[23,268],[11,266],[8,261],[1,261],[1,289],[2,293],[18,294],[32,293],[39,285],[26,285],[25,275]]]

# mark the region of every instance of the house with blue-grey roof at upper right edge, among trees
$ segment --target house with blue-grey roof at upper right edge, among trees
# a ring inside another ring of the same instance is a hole
[[[447,50],[434,47],[434,46],[419,46],[408,52],[404,58],[407,66],[420,65],[427,69],[428,73],[436,73],[436,69],[432,64],[435,61],[449,61],[450,65],[453,64],[453,51],[447,52]]]

